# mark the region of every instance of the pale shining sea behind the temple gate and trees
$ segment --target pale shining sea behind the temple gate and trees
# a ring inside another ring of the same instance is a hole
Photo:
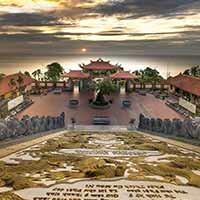
[[[40,68],[43,72],[48,64],[60,63],[66,71],[80,69],[79,64],[88,64],[90,60],[102,58],[112,64],[121,64],[125,70],[135,71],[151,67],[161,75],[175,76],[194,65],[200,65],[200,56],[102,56],[102,55],[66,55],[66,56],[0,56],[0,73],[12,74]]]

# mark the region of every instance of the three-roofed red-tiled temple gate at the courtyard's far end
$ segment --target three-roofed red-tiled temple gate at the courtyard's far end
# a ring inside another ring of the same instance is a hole
[[[81,70],[70,70],[62,75],[64,79],[67,79],[70,87],[73,88],[76,85],[79,90],[89,90],[94,80],[110,78],[119,90],[122,85],[125,85],[126,91],[131,92],[134,89],[134,80],[138,78],[137,75],[124,71],[121,65],[113,65],[110,61],[104,61],[101,58],[96,61],[91,60],[89,64],[81,64],[79,67]]]

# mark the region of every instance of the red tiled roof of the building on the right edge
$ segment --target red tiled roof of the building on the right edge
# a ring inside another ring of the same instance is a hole
[[[169,78],[167,82],[186,92],[200,96],[200,78],[179,74]]]

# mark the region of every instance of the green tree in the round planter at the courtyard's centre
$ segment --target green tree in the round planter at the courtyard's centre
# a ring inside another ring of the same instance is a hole
[[[104,79],[103,81],[102,80],[96,81],[94,83],[94,88],[97,94],[94,104],[97,105],[108,104],[108,102],[106,102],[105,100],[105,95],[110,95],[117,89],[110,79]]]

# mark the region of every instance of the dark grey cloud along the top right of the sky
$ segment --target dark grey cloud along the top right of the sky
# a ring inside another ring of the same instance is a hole
[[[96,12],[102,15],[125,15],[139,18],[181,16],[197,9],[200,9],[198,0],[122,0],[101,4],[96,8]]]

